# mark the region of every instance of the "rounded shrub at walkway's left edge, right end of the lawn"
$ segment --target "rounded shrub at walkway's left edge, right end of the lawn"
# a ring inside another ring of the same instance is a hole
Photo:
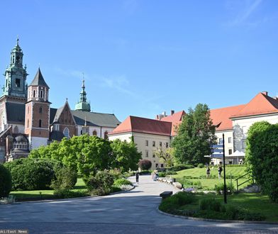
[[[111,192],[113,183],[113,175],[108,171],[97,172],[95,176],[87,181],[87,187],[92,194],[104,196]]]

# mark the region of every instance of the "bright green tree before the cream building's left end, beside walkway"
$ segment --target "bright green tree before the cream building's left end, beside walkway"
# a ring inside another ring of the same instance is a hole
[[[116,139],[110,145],[112,149],[113,168],[121,169],[121,172],[128,172],[129,169],[138,169],[138,162],[142,158],[142,153],[138,152],[133,141],[128,143],[126,140],[121,141]]]

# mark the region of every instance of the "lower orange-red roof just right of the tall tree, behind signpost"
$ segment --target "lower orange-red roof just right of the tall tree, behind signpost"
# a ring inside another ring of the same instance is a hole
[[[245,105],[229,106],[224,108],[218,108],[211,110],[211,119],[213,125],[218,126],[216,130],[229,130],[233,129],[233,123],[230,120],[230,116],[238,113]]]

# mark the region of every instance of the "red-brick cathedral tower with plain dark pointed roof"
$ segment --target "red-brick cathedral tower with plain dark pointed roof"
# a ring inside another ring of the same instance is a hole
[[[33,82],[28,87],[28,99],[25,108],[25,133],[28,134],[32,148],[47,145],[50,125],[49,87],[38,69]]]

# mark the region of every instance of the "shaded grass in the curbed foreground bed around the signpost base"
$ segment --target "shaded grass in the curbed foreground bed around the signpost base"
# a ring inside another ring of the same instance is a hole
[[[201,199],[216,199],[220,201],[222,205],[223,196],[215,194],[196,194],[194,195],[196,199],[191,204],[185,204],[179,206],[179,214],[184,214],[185,216],[191,216],[191,211],[199,210],[199,202]],[[170,197],[169,199],[171,199]],[[169,206],[172,204],[168,202]],[[164,204],[165,205],[165,204]],[[167,204],[166,204],[167,205]],[[278,204],[273,203],[269,200],[267,195],[262,194],[232,194],[228,195],[228,206],[232,205],[234,207],[245,208],[250,213],[260,213],[260,215],[265,216],[265,221],[278,222]],[[227,207],[227,205],[225,205]],[[160,206],[161,208],[162,206]],[[163,207],[167,210],[167,207]],[[169,213],[173,213],[174,210],[168,207]],[[199,216],[200,217],[200,216]],[[219,218],[219,217],[218,217]],[[225,219],[223,216],[221,219]]]

